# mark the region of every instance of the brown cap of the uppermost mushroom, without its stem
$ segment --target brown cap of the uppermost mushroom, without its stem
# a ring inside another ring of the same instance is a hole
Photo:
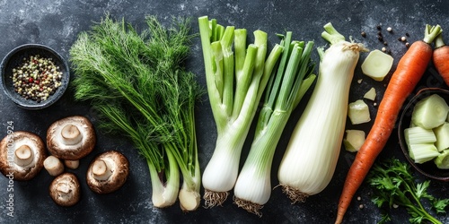
[[[76,144],[65,144],[61,131],[66,125],[75,125],[83,139]],[[84,116],[68,116],[57,120],[48,127],[47,148],[48,151],[59,159],[78,160],[91,153],[96,143],[96,135],[93,125]]]

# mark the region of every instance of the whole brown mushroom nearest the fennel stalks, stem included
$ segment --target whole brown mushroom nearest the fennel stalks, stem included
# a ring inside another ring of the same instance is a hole
[[[108,194],[125,184],[128,173],[128,159],[119,151],[106,151],[92,160],[87,169],[87,185],[97,194]]]

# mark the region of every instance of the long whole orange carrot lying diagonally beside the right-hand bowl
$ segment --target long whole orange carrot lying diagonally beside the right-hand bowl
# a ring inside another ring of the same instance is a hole
[[[415,89],[417,83],[427,69],[432,58],[433,48],[430,43],[441,33],[439,25],[431,28],[426,26],[425,38],[414,42],[401,57],[399,64],[383,94],[377,116],[371,131],[366,136],[365,143],[357,152],[351,168],[349,168],[345,185],[339,199],[339,209],[335,223],[341,223],[348,210],[352,197],[362,185],[369,169],[373,166],[377,155],[383,150],[394,128],[401,107]]]

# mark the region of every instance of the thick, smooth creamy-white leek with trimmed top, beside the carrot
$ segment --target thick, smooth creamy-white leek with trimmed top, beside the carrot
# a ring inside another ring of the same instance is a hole
[[[292,202],[320,193],[333,176],[348,113],[348,95],[361,44],[351,43],[328,23],[321,37],[319,75],[311,99],[287,144],[277,177]]]

